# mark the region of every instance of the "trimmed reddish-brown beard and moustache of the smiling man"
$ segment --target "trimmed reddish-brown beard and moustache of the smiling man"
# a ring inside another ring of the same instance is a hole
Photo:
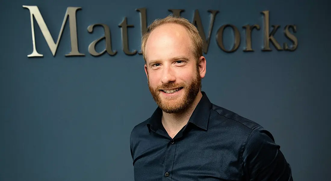
[[[179,99],[177,96],[169,98],[161,97],[160,90],[171,90],[179,87],[182,88],[181,91],[184,91],[183,98]],[[197,71],[196,76],[188,85],[184,83],[175,84],[171,82],[169,84],[159,85],[156,88],[151,87],[148,81],[148,88],[153,96],[153,99],[164,112],[179,113],[188,108],[197,97],[199,91],[201,90],[201,77]]]

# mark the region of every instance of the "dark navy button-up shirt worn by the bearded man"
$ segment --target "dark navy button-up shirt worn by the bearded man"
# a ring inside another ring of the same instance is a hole
[[[273,136],[254,121],[212,104],[206,93],[171,139],[157,108],[130,135],[135,181],[292,181]]]

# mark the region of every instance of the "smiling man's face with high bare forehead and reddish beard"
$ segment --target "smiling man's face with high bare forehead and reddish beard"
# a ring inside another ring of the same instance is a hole
[[[178,24],[154,29],[145,51],[145,72],[155,102],[166,113],[185,110],[199,93],[205,76],[196,64],[186,29]]]

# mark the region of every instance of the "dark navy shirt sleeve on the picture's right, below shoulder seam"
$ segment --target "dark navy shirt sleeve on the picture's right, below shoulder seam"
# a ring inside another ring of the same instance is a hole
[[[247,181],[293,181],[292,170],[280,146],[263,127],[254,128],[243,152],[243,173]]]

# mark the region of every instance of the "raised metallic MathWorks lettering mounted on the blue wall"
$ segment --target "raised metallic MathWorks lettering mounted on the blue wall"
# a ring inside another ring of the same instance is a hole
[[[69,28],[70,28],[70,42],[71,42],[71,51],[66,54],[65,56],[85,56],[84,53],[79,52],[78,50],[78,40],[77,40],[77,23],[76,23],[76,12],[77,10],[82,9],[81,7],[68,7],[67,11],[64,15],[64,19],[63,19],[63,23],[61,25],[61,29],[59,32],[59,36],[56,40],[56,42],[54,41],[54,39],[51,36],[51,33],[49,32],[49,29],[38,9],[37,6],[23,6],[23,8],[27,8],[30,12],[30,21],[31,21],[31,33],[32,33],[32,45],[33,45],[33,50],[32,53],[27,55],[28,57],[43,57],[42,54],[38,53],[37,49],[36,49],[36,41],[35,41],[35,36],[34,36],[34,21],[33,18],[36,20],[47,44],[48,47],[50,48],[53,56],[55,56],[56,54],[56,50],[58,48],[60,39],[61,39],[61,35],[64,29],[64,26],[66,24],[67,21],[69,21]],[[139,8],[136,9],[136,11],[139,13],[140,15],[140,29],[141,29],[141,35],[144,34],[147,31],[147,22],[146,22],[146,8]],[[176,16],[180,16],[181,12],[185,11],[184,9],[169,9],[168,11],[172,12],[174,15]],[[213,31],[213,25],[214,25],[214,21],[215,21],[215,17],[218,14],[218,10],[208,10],[208,12],[210,13],[210,24],[209,24],[209,29],[208,29],[208,36],[206,36],[206,33],[204,31],[204,27],[202,26],[202,22],[201,22],[201,18],[200,18],[200,14],[198,10],[194,11],[193,14],[193,21],[192,24],[194,24],[199,32],[200,35],[202,36],[203,40],[204,40],[204,53],[207,54],[208,52],[208,47],[209,47],[209,43],[211,40],[211,34]],[[288,45],[287,43],[283,43],[281,44],[280,42],[278,42],[276,40],[276,38],[274,37],[274,34],[277,32],[277,30],[280,28],[280,25],[272,25],[269,22],[269,11],[262,11],[261,14],[263,15],[263,45],[261,48],[261,51],[272,51],[270,48],[270,43],[274,46],[274,48],[278,51],[280,50],[284,50],[284,51],[295,51],[298,47],[298,39],[297,37],[294,35],[294,33],[296,33],[297,31],[297,27],[294,24],[287,24],[284,25],[283,28],[283,34],[284,36],[290,40],[292,42],[291,45]],[[90,45],[88,46],[88,52],[92,55],[92,56],[100,56],[103,55],[104,53],[108,53],[111,56],[115,56],[117,54],[117,50],[113,50],[112,49],[112,38],[111,38],[111,33],[110,33],[110,28],[106,25],[106,24],[102,24],[102,23],[98,23],[98,24],[91,24],[87,27],[87,31],[89,33],[93,33],[93,28],[95,26],[102,26],[104,29],[104,36],[92,41],[90,43]],[[141,54],[140,52],[138,52],[137,50],[134,51],[130,51],[129,50],[129,45],[128,45],[128,34],[127,34],[127,28],[128,27],[133,27],[133,25],[128,25],[127,24],[127,19],[126,17],[124,17],[124,19],[122,20],[121,23],[119,23],[119,28],[121,31],[121,41],[122,41],[122,51],[126,54],[126,55],[135,55],[135,54]],[[272,29],[270,29],[270,26],[272,27]],[[223,44],[223,31],[225,28],[231,28],[233,33],[234,33],[234,42],[232,43],[232,48],[231,49],[225,49],[224,48],[224,44]],[[246,36],[244,38],[242,38],[240,36],[240,31],[238,29],[238,27],[236,27],[233,24],[224,24],[220,27],[218,27],[217,29],[217,33],[216,33],[216,37],[214,37],[216,39],[217,45],[219,46],[219,48],[221,50],[223,50],[224,52],[230,53],[230,52],[235,52],[238,50],[239,45],[242,42],[242,39],[245,40],[245,49],[243,50],[244,52],[253,52],[254,50],[252,49],[252,31],[255,29],[255,31],[259,31],[260,30],[260,25],[259,24],[246,24],[243,25],[241,28],[245,29],[245,34]],[[292,32],[290,31],[290,29],[292,30]],[[140,38],[140,37],[139,37]],[[97,52],[95,50],[95,46],[97,43],[99,43],[101,40],[105,39],[105,49],[101,52]]]

